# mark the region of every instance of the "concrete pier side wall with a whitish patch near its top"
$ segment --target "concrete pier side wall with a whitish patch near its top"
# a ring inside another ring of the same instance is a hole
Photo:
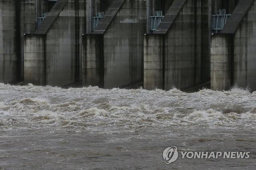
[[[143,80],[143,35],[146,0],[125,0],[104,33],[104,87],[122,87]]]

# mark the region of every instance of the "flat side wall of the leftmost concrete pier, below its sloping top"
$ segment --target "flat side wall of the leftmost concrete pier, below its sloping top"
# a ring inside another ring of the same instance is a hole
[[[46,81],[63,86],[82,80],[84,0],[69,0],[46,34]]]

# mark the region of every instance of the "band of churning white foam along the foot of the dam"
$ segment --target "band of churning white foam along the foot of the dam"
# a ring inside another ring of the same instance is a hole
[[[5,127],[58,128],[211,126],[239,127],[254,121],[256,96],[248,89],[100,89],[12,86],[0,83],[0,122]],[[230,111],[225,111],[229,109]],[[12,120],[16,120],[13,123]],[[87,129],[87,130],[88,130]],[[101,130],[102,131],[102,130]]]

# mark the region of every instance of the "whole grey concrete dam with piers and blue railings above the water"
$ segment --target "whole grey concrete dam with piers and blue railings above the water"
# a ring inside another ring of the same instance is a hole
[[[254,0],[1,0],[0,82],[256,90]]]

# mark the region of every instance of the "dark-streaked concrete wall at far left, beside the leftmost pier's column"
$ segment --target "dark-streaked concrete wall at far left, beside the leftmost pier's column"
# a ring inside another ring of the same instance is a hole
[[[35,28],[35,0],[0,2],[0,82],[23,80],[23,34]]]

